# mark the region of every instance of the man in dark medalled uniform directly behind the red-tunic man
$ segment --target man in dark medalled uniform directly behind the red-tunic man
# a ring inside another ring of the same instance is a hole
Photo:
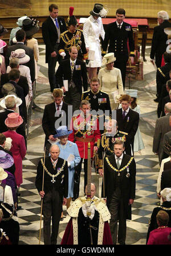
[[[109,117],[111,116],[111,104],[109,100],[108,94],[105,94],[105,92],[101,92],[99,90],[100,82],[98,78],[92,78],[91,84],[90,84],[91,90],[83,92],[82,94],[82,100],[88,100],[89,104],[91,105],[91,111],[95,110],[96,112],[99,110],[102,110],[104,112],[104,116],[106,120],[109,120]],[[98,117],[100,117],[98,115]],[[103,122],[104,124],[104,119]],[[100,125],[100,120],[99,120]],[[104,125],[103,128],[100,125],[100,132],[103,133],[104,131]]]

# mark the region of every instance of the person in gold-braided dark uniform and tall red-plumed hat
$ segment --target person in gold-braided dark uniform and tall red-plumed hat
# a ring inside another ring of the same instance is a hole
[[[80,29],[76,29],[76,25],[78,25],[78,22],[76,21],[76,18],[73,15],[73,11],[73,7],[70,7],[70,17],[68,17],[67,20],[68,30],[60,34],[58,51],[62,58],[69,59],[70,47],[76,46],[78,50],[78,59],[86,60],[88,59],[88,53],[86,50],[86,44],[84,42],[83,31]]]

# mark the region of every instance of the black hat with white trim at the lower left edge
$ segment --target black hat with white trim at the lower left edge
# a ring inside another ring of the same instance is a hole
[[[3,212],[2,221],[7,221],[6,220],[7,218],[9,220],[12,218],[14,221],[18,221],[17,213],[15,212],[13,205],[9,205],[6,202],[1,202],[0,208],[2,209],[2,212]]]

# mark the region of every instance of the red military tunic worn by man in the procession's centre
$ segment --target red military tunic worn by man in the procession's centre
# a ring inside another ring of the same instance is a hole
[[[91,114],[74,116],[71,120],[70,130],[73,132],[68,136],[68,140],[78,145],[80,157],[87,159],[88,142],[91,144],[91,158],[93,157],[93,147],[100,145],[101,133],[99,130],[99,120]]]

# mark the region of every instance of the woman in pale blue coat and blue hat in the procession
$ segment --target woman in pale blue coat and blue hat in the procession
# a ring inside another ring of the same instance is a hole
[[[60,148],[59,157],[68,162],[68,197],[67,197],[67,209],[70,207],[71,198],[74,197],[74,173],[75,166],[77,166],[81,160],[78,147],[76,143],[68,140],[68,135],[72,131],[68,131],[67,126],[63,125],[56,129],[55,138],[60,141],[55,144]],[[63,218],[63,215],[62,217]]]

